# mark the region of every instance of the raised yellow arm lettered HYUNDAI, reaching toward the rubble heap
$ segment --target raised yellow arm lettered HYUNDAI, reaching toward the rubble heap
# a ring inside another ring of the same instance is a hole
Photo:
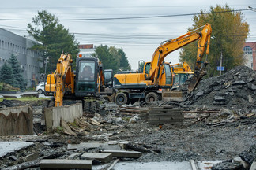
[[[163,64],[164,58],[170,54],[174,50],[178,50],[179,48],[186,46],[187,44],[194,42],[199,39],[198,41],[198,54],[197,54],[197,63],[195,67],[195,71],[200,71],[202,68],[202,62],[201,59],[203,57],[205,46],[207,46],[206,54],[209,53],[209,41],[210,41],[210,35],[212,33],[212,28],[210,24],[205,24],[205,26],[201,27],[203,28],[200,32],[190,31],[187,32],[185,35],[179,36],[176,39],[170,39],[168,41],[162,42],[160,46],[156,49],[155,53],[152,56],[151,61],[151,68],[149,71],[149,79],[153,81],[154,84],[156,84],[159,77],[159,71],[160,71],[160,65]],[[202,75],[202,72],[198,74],[200,77]],[[198,77],[197,77],[198,78]],[[198,81],[201,78],[198,78]],[[196,79],[194,79],[196,80]],[[196,86],[198,81],[191,84],[189,87],[189,91]],[[196,83],[196,84],[195,84]],[[157,85],[157,84],[156,84]],[[193,91],[192,90],[192,91]]]

